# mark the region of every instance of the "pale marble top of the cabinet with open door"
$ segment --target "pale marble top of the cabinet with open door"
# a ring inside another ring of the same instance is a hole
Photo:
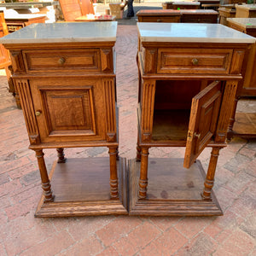
[[[142,42],[255,43],[256,38],[221,24],[138,22]]]

